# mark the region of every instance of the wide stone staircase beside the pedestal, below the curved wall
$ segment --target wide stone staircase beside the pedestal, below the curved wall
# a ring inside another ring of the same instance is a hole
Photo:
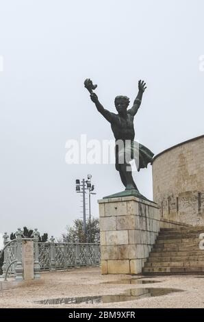
[[[204,250],[199,235],[204,226],[163,228],[149,254],[144,275],[204,273]]]

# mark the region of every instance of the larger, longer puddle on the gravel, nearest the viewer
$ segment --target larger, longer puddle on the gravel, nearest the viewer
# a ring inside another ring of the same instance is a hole
[[[118,295],[101,295],[90,297],[59,297],[58,299],[44,299],[36,301],[38,304],[99,304],[133,301],[143,297],[157,297],[170,293],[183,292],[175,288],[131,288]]]

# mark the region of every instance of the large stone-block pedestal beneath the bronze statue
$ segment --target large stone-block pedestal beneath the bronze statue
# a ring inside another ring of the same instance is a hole
[[[156,203],[137,197],[99,200],[102,274],[138,274],[160,231]]]

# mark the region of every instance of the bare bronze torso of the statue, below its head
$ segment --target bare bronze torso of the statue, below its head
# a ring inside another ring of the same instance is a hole
[[[130,114],[127,114],[126,119],[118,114],[115,114],[111,127],[116,140],[133,140],[135,137],[133,116]]]

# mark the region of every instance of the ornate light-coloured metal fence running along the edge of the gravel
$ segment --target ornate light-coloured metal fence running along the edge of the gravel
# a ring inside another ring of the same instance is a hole
[[[40,271],[55,271],[73,267],[98,266],[100,264],[99,243],[55,243],[53,236],[48,243],[38,243],[37,230],[34,233],[36,233],[34,238],[37,238],[34,239],[36,241],[34,243],[34,271],[36,271],[36,274],[39,269],[35,269],[35,267],[39,267],[39,265]],[[3,236],[4,250],[1,253],[1,255],[4,255],[3,277],[7,274],[16,276],[19,262],[21,262],[20,266],[22,267],[22,245],[20,244],[27,238],[22,238],[21,230],[18,230],[16,234],[18,234],[18,238],[11,241],[8,240],[8,234],[5,233]]]

